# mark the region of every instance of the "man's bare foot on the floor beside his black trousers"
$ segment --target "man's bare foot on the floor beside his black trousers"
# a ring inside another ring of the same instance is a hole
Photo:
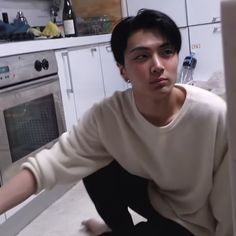
[[[84,220],[81,224],[86,228],[88,232],[94,235],[99,235],[111,231],[111,229],[105,223],[95,219]]]

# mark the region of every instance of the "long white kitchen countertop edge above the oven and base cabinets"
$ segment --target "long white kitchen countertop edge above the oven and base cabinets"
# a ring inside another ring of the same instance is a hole
[[[106,43],[110,41],[110,37],[110,34],[104,34],[72,38],[3,42],[0,43],[0,57],[18,55],[29,52],[56,50],[70,47],[86,46],[91,44]]]

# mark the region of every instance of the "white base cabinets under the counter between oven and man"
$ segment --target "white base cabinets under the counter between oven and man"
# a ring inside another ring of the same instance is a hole
[[[109,43],[58,50],[56,58],[67,130],[94,103],[127,89]]]

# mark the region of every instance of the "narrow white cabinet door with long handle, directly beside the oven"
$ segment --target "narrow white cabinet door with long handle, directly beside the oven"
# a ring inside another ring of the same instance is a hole
[[[70,130],[77,121],[74,88],[67,50],[55,52],[58,65],[58,75],[61,87],[61,96],[65,113],[66,129]]]

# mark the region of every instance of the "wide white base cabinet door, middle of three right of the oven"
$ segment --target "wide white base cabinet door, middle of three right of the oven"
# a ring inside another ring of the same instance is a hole
[[[95,102],[104,98],[104,86],[98,47],[72,49],[68,52],[77,118]]]

